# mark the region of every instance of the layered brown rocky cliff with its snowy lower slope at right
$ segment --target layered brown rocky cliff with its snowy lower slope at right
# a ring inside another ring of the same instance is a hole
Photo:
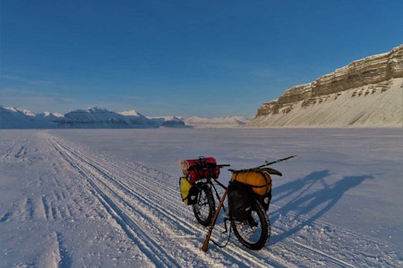
[[[264,103],[248,126],[402,127],[403,45]]]

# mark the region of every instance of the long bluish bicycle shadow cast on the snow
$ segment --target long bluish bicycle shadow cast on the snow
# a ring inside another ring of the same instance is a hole
[[[292,197],[292,199],[271,213],[270,221],[274,223],[279,221],[283,215],[288,214],[297,220],[297,224],[289,230],[272,235],[270,244],[287,239],[302,230],[305,225],[312,224],[323,214],[329,212],[330,208],[336,205],[349,189],[355,188],[364,180],[373,179],[372,175],[346,176],[341,180],[328,183],[325,180],[328,176],[330,176],[329,170],[312,172],[304,178],[273,188],[271,202],[278,202],[287,197]],[[318,188],[317,183],[320,183],[322,188]],[[316,189],[313,189],[313,186]]]

